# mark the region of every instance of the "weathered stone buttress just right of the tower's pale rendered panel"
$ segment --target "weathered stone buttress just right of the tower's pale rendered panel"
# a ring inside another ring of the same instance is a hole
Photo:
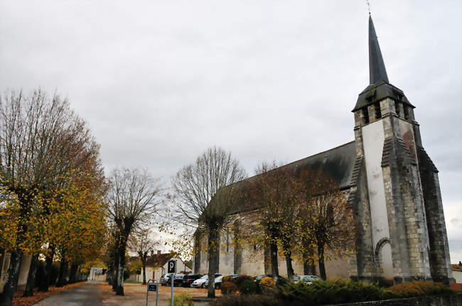
[[[417,161],[402,141],[399,119],[390,99],[382,102],[385,144],[382,173],[385,183],[394,278],[431,278],[426,250],[426,224]]]

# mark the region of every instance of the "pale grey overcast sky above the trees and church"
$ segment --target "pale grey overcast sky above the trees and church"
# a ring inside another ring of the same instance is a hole
[[[439,168],[451,261],[462,261],[461,1],[375,1],[390,82]],[[1,1],[0,90],[68,97],[107,172],[166,181],[209,146],[249,174],[353,141],[369,84],[357,1]]]

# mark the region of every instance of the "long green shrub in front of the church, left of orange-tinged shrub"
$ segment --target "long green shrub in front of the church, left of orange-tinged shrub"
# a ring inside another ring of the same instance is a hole
[[[284,300],[306,305],[337,304],[345,302],[365,302],[385,300],[394,295],[375,284],[352,282],[351,280],[323,280],[306,283],[288,283],[279,287],[279,295]]]

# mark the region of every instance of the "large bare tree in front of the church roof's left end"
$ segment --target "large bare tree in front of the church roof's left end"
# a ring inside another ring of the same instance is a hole
[[[215,297],[220,229],[227,222],[236,193],[232,186],[223,187],[245,177],[245,170],[231,153],[216,147],[208,148],[195,163],[186,165],[173,177],[176,221],[191,231],[201,228],[208,235],[208,297]]]

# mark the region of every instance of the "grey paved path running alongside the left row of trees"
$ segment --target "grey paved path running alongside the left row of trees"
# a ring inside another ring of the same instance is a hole
[[[58,295],[45,298],[33,306],[102,306],[102,290],[99,282],[64,290]]]

